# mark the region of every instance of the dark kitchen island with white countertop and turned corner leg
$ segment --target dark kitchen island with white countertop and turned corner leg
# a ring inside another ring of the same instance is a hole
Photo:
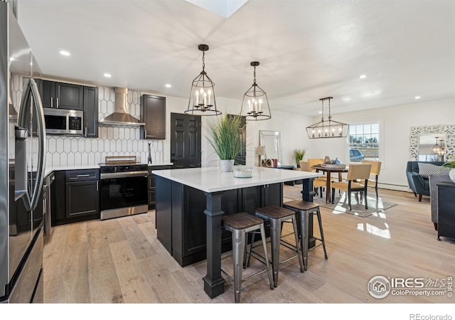
[[[235,178],[218,168],[152,171],[156,175],[156,232],[159,241],[183,267],[207,260],[204,290],[213,298],[224,292],[221,253],[230,234],[221,216],[255,214],[260,206],[283,204],[283,183],[302,180],[302,198],[313,201],[313,180],[319,173],[255,167],[251,178]]]

